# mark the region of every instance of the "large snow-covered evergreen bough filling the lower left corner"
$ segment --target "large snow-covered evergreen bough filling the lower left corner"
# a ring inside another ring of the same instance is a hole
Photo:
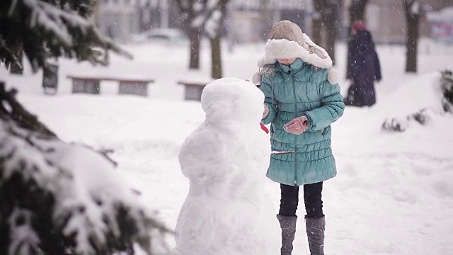
[[[166,254],[171,231],[115,164],[59,140],[1,85],[0,254]]]

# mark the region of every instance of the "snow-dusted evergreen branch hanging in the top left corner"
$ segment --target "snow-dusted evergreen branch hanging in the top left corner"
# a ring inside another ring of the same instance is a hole
[[[108,64],[108,50],[132,58],[130,53],[101,35],[86,19],[94,1],[55,4],[44,0],[4,0],[0,4],[0,40],[6,47],[21,47],[33,70],[45,67],[47,57],[75,57],[93,64]],[[96,50],[96,47],[103,50]],[[13,58],[0,52],[0,61]]]

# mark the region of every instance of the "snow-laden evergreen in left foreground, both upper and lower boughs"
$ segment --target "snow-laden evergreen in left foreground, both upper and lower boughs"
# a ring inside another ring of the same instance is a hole
[[[0,62],[34,71],[49,57],[107,64],[131,57],[87,18],[91,0],[0,1]],[[0,254],[168,254],[165,234],[108,155],[68,144],[40,123],[0,81]]]

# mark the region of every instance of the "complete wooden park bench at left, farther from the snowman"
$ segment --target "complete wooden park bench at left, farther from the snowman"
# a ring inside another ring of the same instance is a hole
[[[114,78],[96,76],[73,76],[72,93],[100,94],[101,81],[117,81],[119,84],[118,94],[130,94],[138,96],[148,96],[148,84],[154,83],[154,79],[135,79],[135,78]]]

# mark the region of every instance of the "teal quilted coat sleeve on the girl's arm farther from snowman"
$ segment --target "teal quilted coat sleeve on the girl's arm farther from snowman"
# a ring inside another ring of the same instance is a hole
[[[322,94],[322,106],[305,113],[309,118],[310,126],[308,131],[315,132],[323,130],[343,115],[345,103],[343,96],[340,94],[338,83],[331,84],[329,81],[323,81],[320,87]]]

